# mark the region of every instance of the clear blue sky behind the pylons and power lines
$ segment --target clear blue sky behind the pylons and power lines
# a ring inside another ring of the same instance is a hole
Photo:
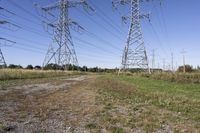
[[[143,3],[142,12],[151,13],[151,23],[142,20],[145,45],[150,66],[152,49],[155,49],[156,66],[171,63],[174,53],[174,65],[182,64],[182,49],[185,49],[186,63],[197,66],[200,64],[200,1],[199,0],[163,0],[162,7],[156,2]],[[159,1],[159,0],[158,0]],[[15,4],[19,5],[20,8]],[[21,28],[0,26],[0,37],[17,42],[10,47],[1,47],[7,64],[26,66],[42,65],[51,36],[45,32],[33,3],[41,6],[56,0],[1,0],[3,8],[15,13],[10,15],[0,10],[0,19],[19,25]],[[91,3],[92,2],[92,3]],[[89,0],[88,3],[96,10],[88,15],[82,9],[70,9],[70,17],[77,21],[90,33],[72,31],[79,64],[89,67],[119,67],[122,50],[127,38],[128,25],[123,24],[121,15],[125,15],[130,7],[124,6],[114,10],[111,0]],[[28,12],[27,12],[28,11]],[[119,13],[120,12],[120,13]],[[8,30],[10,29],[10,30]],[[92,43],[87,44],[83,41]],[[4,43],[1,41],[1,43]]]

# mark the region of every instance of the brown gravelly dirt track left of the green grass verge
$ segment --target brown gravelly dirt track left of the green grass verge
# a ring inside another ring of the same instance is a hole
[[[89,132],[96,76],[78,76],[0,90],[0,132]]]

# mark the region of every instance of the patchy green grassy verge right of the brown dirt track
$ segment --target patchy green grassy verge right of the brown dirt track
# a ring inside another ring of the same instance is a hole
[[[111,132],[199,132],[200,85],[139,76],[104,76],[95,84],[96,127]]]

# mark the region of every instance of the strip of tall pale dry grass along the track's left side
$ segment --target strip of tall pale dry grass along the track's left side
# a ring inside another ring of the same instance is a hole
[[[86,73],[77,71],[43,71],[26,69],[0,69],[0,89],[8,86],[44,83],[52,79],[67,78]]]

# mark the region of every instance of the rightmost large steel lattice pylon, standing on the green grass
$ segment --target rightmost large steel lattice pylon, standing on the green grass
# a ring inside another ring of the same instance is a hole
[[[122,55],[122,69],[142,68],[149,69],[146,48],[144,45],[143,34],[141,30],[140,19],[149,18],[149,14],[140,13],[141,0],[113,0],[113,6],[116,5],[131,5],[131,15],[122,17],[123,20],[130,19],[130,27],[128,38]]]

